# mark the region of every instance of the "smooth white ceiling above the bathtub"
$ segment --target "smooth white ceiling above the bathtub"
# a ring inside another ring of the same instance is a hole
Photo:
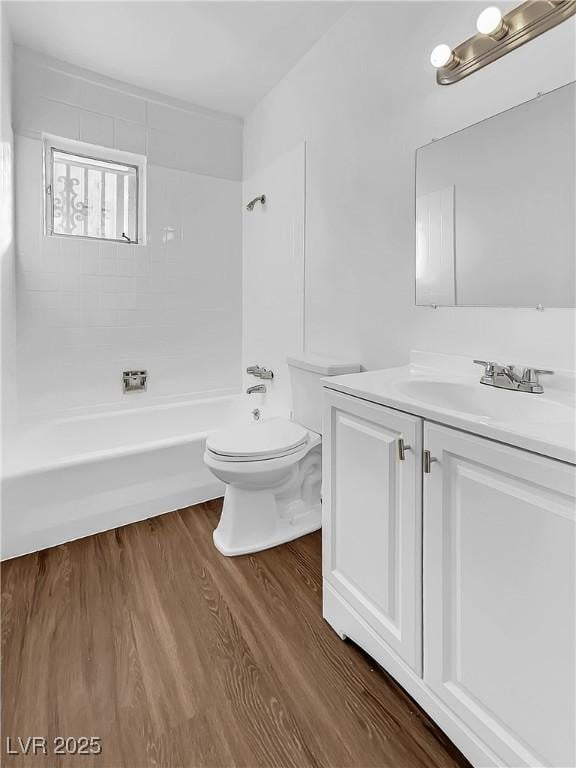
[[[14,41],[192,104],[244,116],[346,2],[6,2]]]

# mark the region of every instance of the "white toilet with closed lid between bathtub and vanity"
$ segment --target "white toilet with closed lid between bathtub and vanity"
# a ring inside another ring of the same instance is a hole
[[[226,483],[214,544],[223,555],[275,547],[322,525],[322,382],[360,370],[320,355],[288,358],[292,420],[254,421],[209,435],[204,461]]]

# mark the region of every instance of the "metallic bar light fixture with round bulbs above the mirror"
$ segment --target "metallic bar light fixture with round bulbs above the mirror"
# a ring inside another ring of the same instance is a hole
[[[505,15],[496,6],[485,8],[478,16],[474,37],[454,49],[443,43],[432,51],[430,63],[436,68],[436,82],[457,83],[574,14],[576,0],[531,0]]]

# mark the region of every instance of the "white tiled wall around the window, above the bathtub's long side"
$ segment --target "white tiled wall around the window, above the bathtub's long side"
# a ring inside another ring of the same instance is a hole
[[[237,391],[241,122],[17,48],[14,127],[21,414]],[[147,155],[146,246],[44,236],[42,132]]]

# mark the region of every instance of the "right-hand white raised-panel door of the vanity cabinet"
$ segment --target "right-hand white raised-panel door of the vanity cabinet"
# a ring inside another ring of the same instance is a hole
[[[574,766],[576,468],[431,424],[424,447],[424,680],[503,765]]]

